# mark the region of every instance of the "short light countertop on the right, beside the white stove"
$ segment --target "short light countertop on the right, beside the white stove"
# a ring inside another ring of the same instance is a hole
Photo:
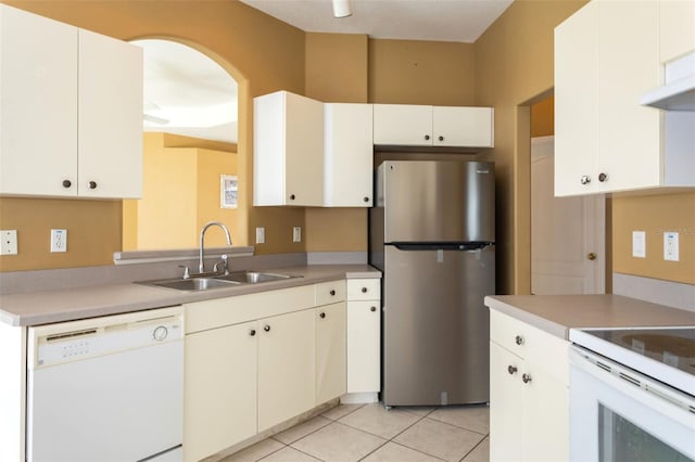
[[[485,305],[558,337],[570,329],[695,325],[695,312],[621,295],[495,295]]]

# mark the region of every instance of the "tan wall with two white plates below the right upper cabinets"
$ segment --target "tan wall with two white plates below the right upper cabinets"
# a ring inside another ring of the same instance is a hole
[[[646,258],[632,256],[632,231],[646,234]],[[679,233],[680,261],[664,260],[664,233]],[[614,197],[612,270],[695,284],[695,193]]]

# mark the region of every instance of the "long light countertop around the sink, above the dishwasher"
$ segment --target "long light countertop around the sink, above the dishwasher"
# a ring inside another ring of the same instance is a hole
[[[2,295],[0,296],[0,322],[10,325],[38,325],[288,288],[338,279],[381,278],[381,272],[368,265],[309,265],[270,268],[264,269],[264,271],[292,274],[299,278],[192,292],[124,283]]]

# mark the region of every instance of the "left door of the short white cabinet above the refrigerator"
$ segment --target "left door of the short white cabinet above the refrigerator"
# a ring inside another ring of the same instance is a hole
[[[432,145],[432,106],[374,105],[374,144]]]

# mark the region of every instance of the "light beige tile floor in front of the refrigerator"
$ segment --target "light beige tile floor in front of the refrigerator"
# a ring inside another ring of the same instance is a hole
[[[486,406],[340,405],[224,462],[486,462],[489,420]]]

